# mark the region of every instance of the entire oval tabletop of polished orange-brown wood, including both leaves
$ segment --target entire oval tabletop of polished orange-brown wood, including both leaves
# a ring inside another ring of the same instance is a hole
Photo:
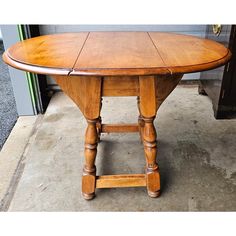
[[[158,75],[191,73],[224,65],[222,44],[173,33],[82,32],[18,42],[3,55],[21,70],[51,75]]]

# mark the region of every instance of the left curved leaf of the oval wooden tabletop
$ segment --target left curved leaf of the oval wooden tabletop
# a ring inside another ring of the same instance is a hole
[[[30,72],[65,75],[73,69],[87,35],[66,33],[27,39],[11,46],[4,60]]]

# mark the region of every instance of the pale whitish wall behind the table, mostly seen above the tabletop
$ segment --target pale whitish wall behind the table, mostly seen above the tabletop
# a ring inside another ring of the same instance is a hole
[[[81,31],[163,31],[205,37],[206,25],[40,25],[40,33],[56,34]],[[184,75],[184,80],[198,80],[200,73]],[[55,82],[49,78],[48,83]]]

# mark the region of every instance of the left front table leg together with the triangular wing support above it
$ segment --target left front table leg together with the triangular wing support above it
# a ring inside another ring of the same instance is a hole
[[[82,195],[90,200],[95,196],[98,128],[100,131],[100,110],[102,77],[54,76],[62,90],[75,102],[88,122],[85,133],[85,165],[82,176]]]

